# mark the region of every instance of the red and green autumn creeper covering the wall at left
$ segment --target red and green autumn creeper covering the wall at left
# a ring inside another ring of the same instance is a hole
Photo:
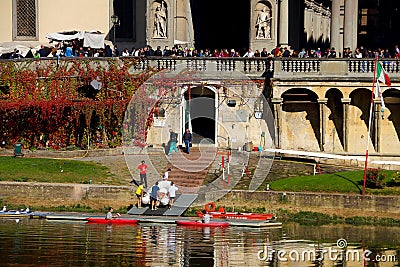
[[[1,141],[52,149],[120,145],[126,107],[152,74],[131,74],[134,64],[134,59],[1,61]],[[101,82],[100,90],[90,86],[93,80]]]

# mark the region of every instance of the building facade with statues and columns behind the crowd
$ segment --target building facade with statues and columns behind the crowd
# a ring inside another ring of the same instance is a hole
[[[67,5],[4,0],[0,5],[0,43],[47,42],[49,32],[96,29],[112,41],[115,33],[120,47],[129,49],[180,44],[270,51],[281,45],[341,52],[359,45],[382,47],[385,40],[394,45],[398,38],[391,32],[400,23],[395,0],[248,0],[235,5],[228,0],[72,0]],[[154,34],[158,27],[165,27],[162,35]]]

